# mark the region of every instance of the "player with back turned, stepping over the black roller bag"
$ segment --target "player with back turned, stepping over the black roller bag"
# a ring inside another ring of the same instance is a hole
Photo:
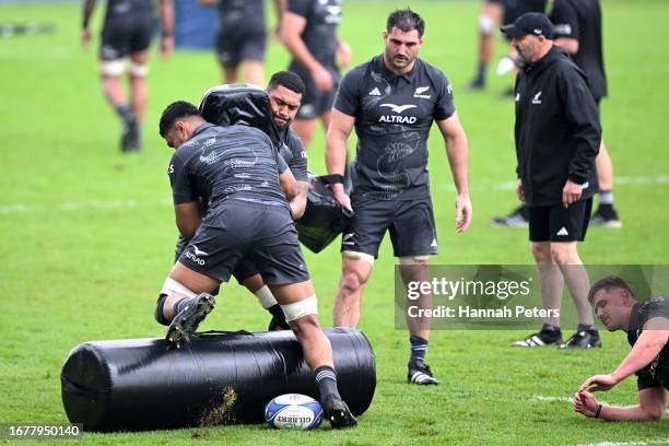
[[[196,106],[171,104],[160,133],[175,149],[168,175],[176,223],[190,239],[161,291],[160,317],[171,320],[166,341],[189,342],[214,306],[209,293],[250,256],[281,305],[312,368],[325,418],[332,427],[356,424],[337,389],[332,348],[318,321],[314,287],[281,189],[293,175],[269,137],[246,126],[207,122]],[[211,190],[201,219],[199,197]]]

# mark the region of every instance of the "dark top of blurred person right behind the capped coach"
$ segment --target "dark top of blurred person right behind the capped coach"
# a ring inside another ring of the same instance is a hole
[[[588,77],[592,96],[596,99],[606,97],[599,0],[555,0],[550,19],[555,26],[555,38],[578,40],[578,52],[572,58]]]

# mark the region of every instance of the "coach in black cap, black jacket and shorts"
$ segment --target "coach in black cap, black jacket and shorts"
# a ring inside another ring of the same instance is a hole
[[[566,281],[578,312],[576,333],[566,342],[560,318],[550,317],[541,331],[514,345],[601,347],[587,301],[588,275],[576,249],[585,238],[597,191],[595,157],[601,141],[597,104],[584,72],[553,45],[553,25],[545,15],[529,12],[501,30],[521,68],[514,89],[516,192],[529,209],[529,239],[543,307],[560,308]]]

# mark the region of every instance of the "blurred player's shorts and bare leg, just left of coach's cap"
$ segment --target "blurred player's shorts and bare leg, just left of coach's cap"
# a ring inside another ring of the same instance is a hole
[[[488,66],[495,54],[495,33],[500,24],[508,25],[526,12],[544,12],[548,0],[484,0],[479,15],[479,58],[471,90],[485,87]],[[513,51],[513,48],[512,48]],[[512,55],[513,59],[513,55]]]

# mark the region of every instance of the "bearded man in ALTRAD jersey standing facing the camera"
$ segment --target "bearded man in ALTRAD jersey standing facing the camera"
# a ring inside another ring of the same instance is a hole
[[[341,239],[334,326],[357,327],[363,290],[386,232],[390,233],[404,284],[427,280],[430,257],[437,253],[427,173],[427,138],[433,122],[446,145],[458,191],[456,230],[465,232],[471,221],[467,136],[455,109],[450,82],[418,57],[424,31],[425,22],[410,9],[392,12],[383,33],[384,52],[349,71],[337,93],[326,165],[334,198],[354,214]],[[359,140],[349,197],[342,183],[347,142],[354,127]],[[407,380],[438,384],[424,362],[430,324],[408,318],[407,325]]]

